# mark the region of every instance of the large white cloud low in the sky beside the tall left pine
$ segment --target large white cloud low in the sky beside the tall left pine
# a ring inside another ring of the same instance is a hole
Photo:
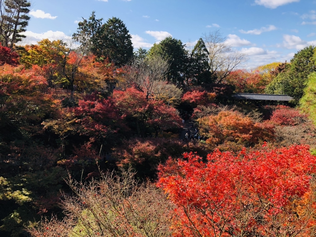
[[[43,39],[49,40],[64,40],[64,42],[71,42],[71,36],[66,35],[64,32],[61,31],[47,31],[45,33],[34,33],[32,31],[23,32],[26,36],[21,42],[20,45],[36,45],[38,41]]]

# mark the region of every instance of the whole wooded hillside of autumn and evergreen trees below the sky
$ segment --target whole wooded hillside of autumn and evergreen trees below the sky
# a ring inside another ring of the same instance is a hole
[[[315,236],[315,46],[246,70],[220,31],[147,51],[94,12],[20,46],[30,3],[0,3],[1,236]]]

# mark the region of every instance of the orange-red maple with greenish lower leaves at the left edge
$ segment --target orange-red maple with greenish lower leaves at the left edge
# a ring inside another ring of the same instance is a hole
[[[53,100],[47,93],[47,81],[37,66],[4,65],[0,68],[0,117],[2,123],[40,120],[53,111]],[[8,124],[7,124],[8,125]]]

